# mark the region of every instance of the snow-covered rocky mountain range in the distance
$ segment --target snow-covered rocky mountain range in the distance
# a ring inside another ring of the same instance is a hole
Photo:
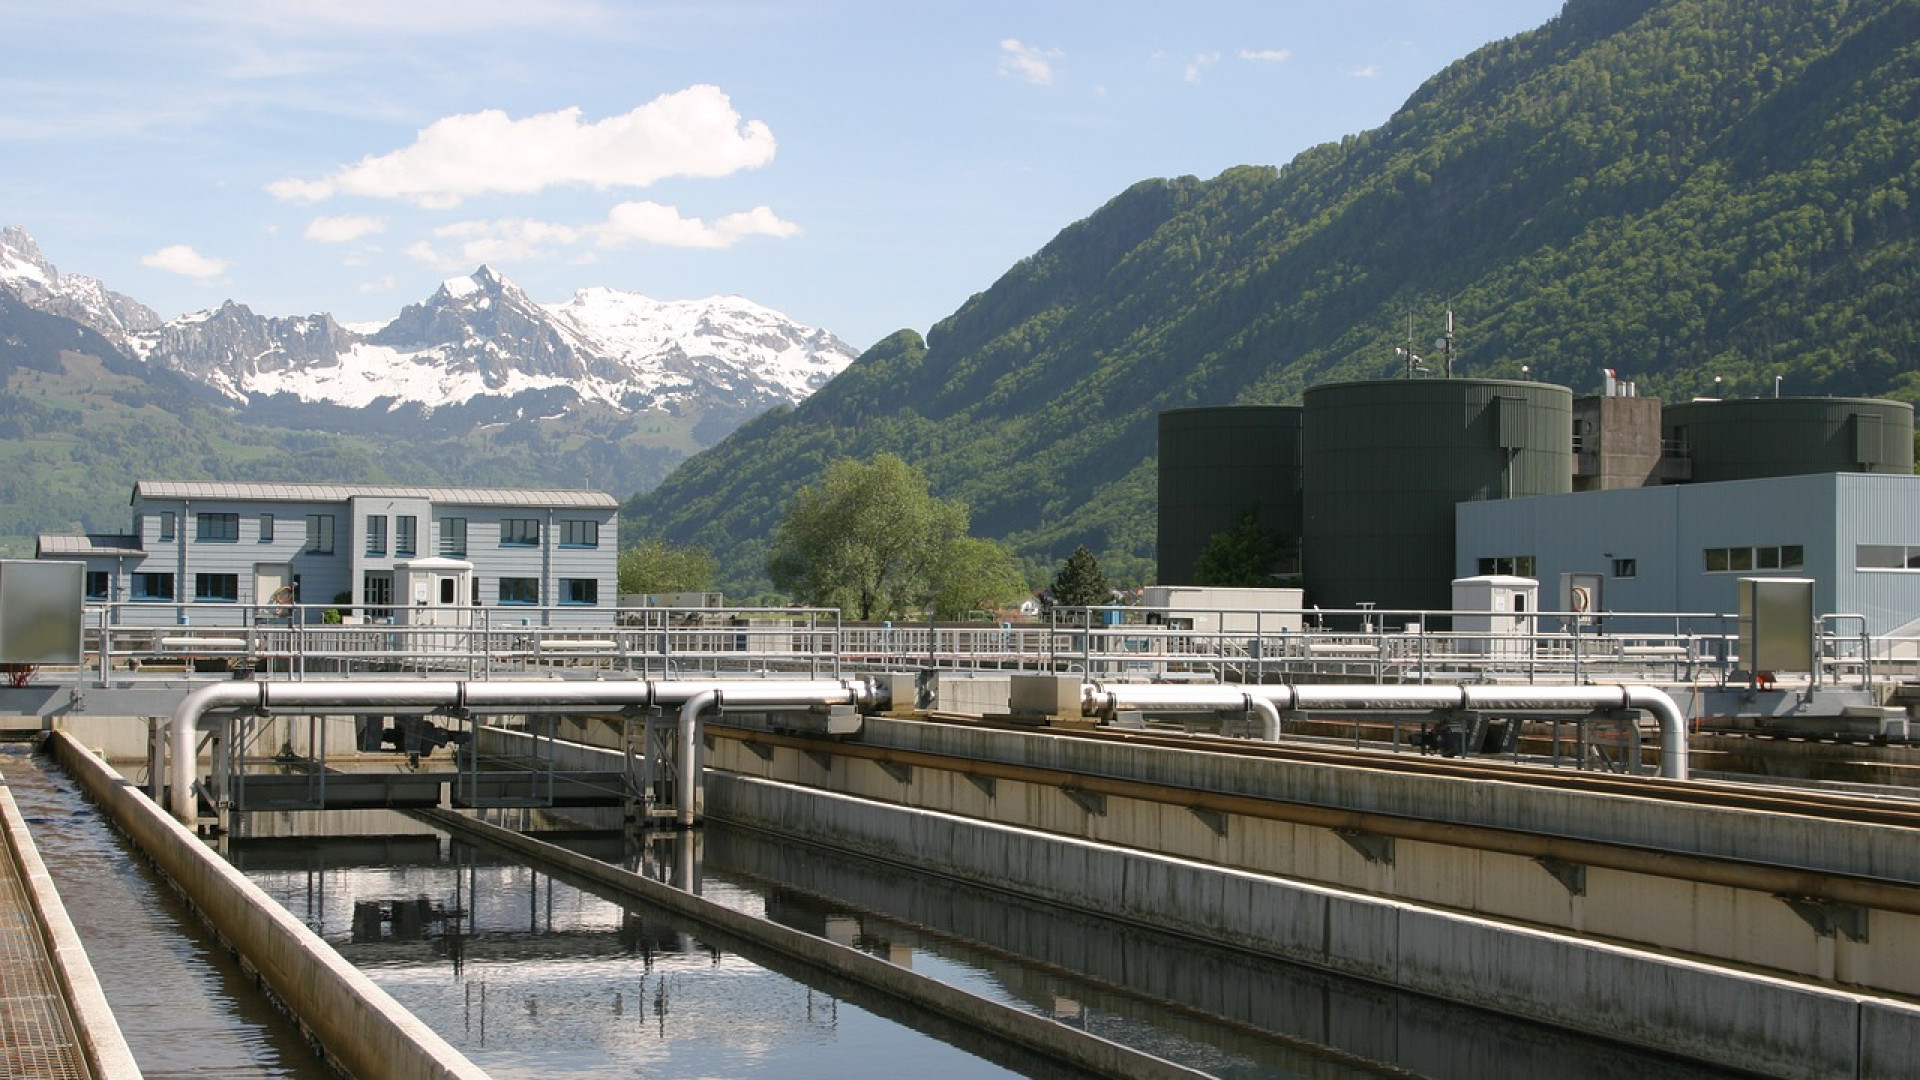
[[[326,313],[263,317],[236,302],[161,321],[92,279],[58,275],[21,229],[0,233],[0,286],[242,407],[511,413],[515,398],[538,394],[545,411],[572,400],[745,417],[806,398],[854,357],[833,334],[737,296],[659,302],[586,288],[541,306],[492,267],[444,282],[371,332]]]

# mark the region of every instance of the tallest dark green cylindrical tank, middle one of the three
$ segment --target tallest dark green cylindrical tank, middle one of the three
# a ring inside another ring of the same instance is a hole
[[[1308,603],[1446,611],[1455,503],[1572,490],[1572,390],[1507,379],[1315,386],[1302,446]]]

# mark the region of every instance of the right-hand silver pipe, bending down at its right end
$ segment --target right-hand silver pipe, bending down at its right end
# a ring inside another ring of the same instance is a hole
[[[1661,726],[1661,776],[1688,778],[1688,724],[1680,707],[1657,686],[1171,686],[1171,684],[1087,684],[1081,700],[1089,713],[1112,715],[1119,709],[1240,709],[1261,715],[1267,738],[1279,738],[1283,709],[1380,711],[1469,709],[1469,711],[1594,711],[1644,709]],[[1265,709],[1252,705],[1265,703]]]

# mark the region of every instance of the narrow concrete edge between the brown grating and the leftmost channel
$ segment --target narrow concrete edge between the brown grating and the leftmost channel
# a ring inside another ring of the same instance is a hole
[[[27,834],[27,821],[13,803],[13,792],[0,786],[0,828],[6,832],[8,853],[19,867],[21,884],[27,888],[27,901],[33,917],[40,924],[48,951],[54,961],[54,978],[65,995],[67,1011],[73,1019],[75,1038],[81,1042],[81,1055],[96,1080],[140,1080],[140,1065],[127,1047],[127,1038],[113,1019],[108,995],[100,988],[86,947],[81,944],[67,909],[54,888],[54,876],[46,872],[40,851]]]

